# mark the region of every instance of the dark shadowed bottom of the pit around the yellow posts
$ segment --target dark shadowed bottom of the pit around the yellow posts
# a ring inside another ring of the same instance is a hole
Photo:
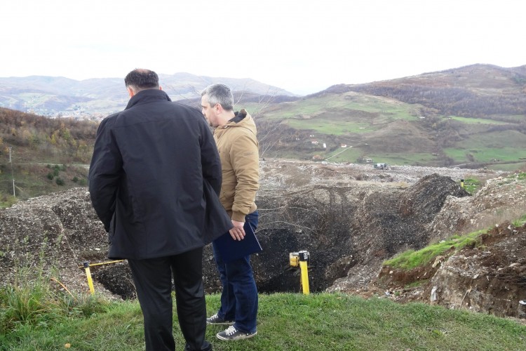
[[[301,270],[290,266],[289,253],[304,249],[309,251],[309,291],[325,291],[339,277],[344,277],[350,265],[334,266],[342,258],[335,248],[309,249],[302,246],[297,233],[288,230],[262,230],[258,233],[264,251],[251,257],[252,270],[259,293],[302,292]],[[328,268],[329,267],[329,268]],[[328,274],[328,271],[331,273]],[[135,286],[128,263],[103,265],[91,270],[93,280],[124,300],[136,298]],[[203,250],[203,284],[205,293],[221,291],[219,273],[209,246]]]

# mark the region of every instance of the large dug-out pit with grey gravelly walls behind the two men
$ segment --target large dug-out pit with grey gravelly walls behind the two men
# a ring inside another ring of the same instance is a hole
[[[377,265],[406,248],[420,249],[429,241],[424,226],[433,220],[448,196],[468,193],[447,177],[426,176],[413,187],[302,187],[293,192],[259,194],[257,237],[262,253],[252,256],[259,292],[299,292],[298,267],[289,254],[310,253],[309,289],[325,291],[346,277],[358,263]],[[129,270],[104,267],[93,274],[106,289],[132,298]],[[210,245],[203,254],[207,293],[220,291]]]

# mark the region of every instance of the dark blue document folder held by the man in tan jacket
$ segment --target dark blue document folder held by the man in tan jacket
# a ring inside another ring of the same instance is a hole
[[[243,240],[232,239],[229,232],[214,240],[215,246],[224,262],[230,262],[252,253],[263,251],[259,241],[257,241],[254,230],[252,230],[248,222],[245,222],[243,229],[245,230],[245,239]]]

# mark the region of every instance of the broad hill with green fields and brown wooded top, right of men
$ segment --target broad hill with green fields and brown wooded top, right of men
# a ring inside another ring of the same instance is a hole
[[[518,169],[526,68],[473,65],[332,86],[258,114],[268,157]]]

